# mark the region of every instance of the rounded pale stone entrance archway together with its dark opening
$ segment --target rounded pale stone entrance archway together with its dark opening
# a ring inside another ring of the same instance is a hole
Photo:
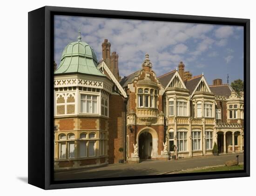
[[[140,159],[156,158],[158,155],[158,136],[155,129],[146,127],[141,129],[136,138]]]

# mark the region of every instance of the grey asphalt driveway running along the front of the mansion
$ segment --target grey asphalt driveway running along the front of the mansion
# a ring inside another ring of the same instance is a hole
[[[74,180],[106,177],[128,177],[167,174],[172,171],[192,169],[225,164],[228,160],[236,160],[239,154],[239,163],[243,162],[243,153],[226,154],[220,156],[204,156],[183,158],[179,160],[146,160],[139,164],[109,164],[102,167],[56,171],[55,180]]]

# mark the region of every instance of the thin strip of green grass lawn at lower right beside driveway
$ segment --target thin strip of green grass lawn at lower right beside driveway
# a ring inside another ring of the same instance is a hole
[[[208,171],[234,171],[234,170],[243,170],[243,164],[235,166],[213,166],[206,168],[195,168],[189,169],[186,171],[179,171],[178,173],[197,173],[197,172],[208,172]]]

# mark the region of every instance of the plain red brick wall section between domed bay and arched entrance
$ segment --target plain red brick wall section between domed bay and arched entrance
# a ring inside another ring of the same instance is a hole
[[[118,163],[125,156],[125,107],[120,95],[109,96],[108,163]],[[119,152],[123,148],[123,152]]]

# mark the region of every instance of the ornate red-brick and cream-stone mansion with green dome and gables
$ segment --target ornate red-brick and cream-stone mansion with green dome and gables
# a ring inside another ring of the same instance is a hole
[[[243,92],[209,85],[180,62],[156,76],[146,54],[121,78],[118,54],[102,43],[68,44],[54,63],[54,170],[243,152]]]

